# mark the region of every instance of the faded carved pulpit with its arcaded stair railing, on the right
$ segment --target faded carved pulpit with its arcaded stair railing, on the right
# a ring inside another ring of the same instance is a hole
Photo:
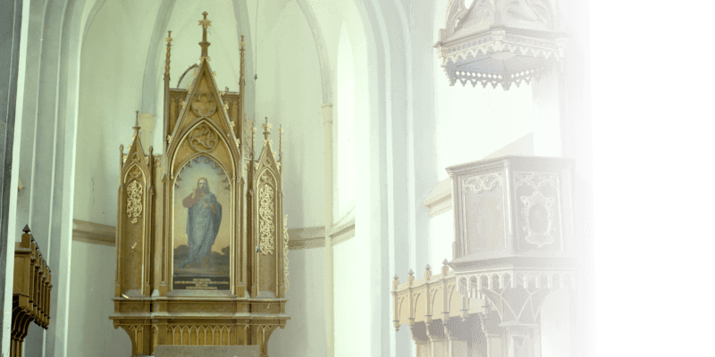
[[[446,169],[452,260],[436,278],[426,271],[415,280],[410,270],[400,285],[395,277],[392,291],[393,323],[409,324],[418,356],[541,356],[543,302],[576,288],[575,167],[574,159],[504,156]]]

